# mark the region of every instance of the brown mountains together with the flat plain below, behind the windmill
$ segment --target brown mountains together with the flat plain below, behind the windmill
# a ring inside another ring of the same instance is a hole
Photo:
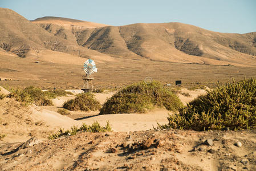
[[[186,85],[229,82],[255,76],[256,32],[227,34],[183,23],[28,21],[0,8],[0,78],[14,80],[1,85],[80,88],[84,58],[95,60],[95,83],[102,87],[147,76]]]

